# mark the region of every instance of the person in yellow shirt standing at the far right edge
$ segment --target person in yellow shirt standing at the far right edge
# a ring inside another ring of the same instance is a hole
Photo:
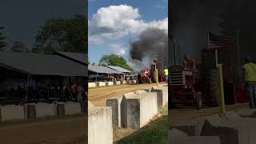
[[[251,62],[249,55],[245,58],[243,66],[243,84],[246,86],[247,96],[250,98],[250,108],[256,107],[256,65]]]

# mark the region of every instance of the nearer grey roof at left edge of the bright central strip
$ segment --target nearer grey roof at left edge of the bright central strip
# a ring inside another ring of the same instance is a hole
[[[118,70],[113,70],[106,66],[88,66],[88,70],[98,74],[123,74]]]

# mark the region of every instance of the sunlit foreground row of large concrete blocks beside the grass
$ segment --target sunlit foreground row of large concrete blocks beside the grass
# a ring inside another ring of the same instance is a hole
[[[112,144],[113,127],[140,128],[145,126],[158,109],[168,102],[166,87],[153,87],[110,98],[107,106],[88,102],[88,143]],[[122,121],[121,121],[122,120]]]

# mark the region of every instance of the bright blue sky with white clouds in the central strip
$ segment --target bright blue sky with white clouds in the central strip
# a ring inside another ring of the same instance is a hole
[[[168,0],[89,0],[89,60],[104,54],[129,61],[129,42],[146,27],[168,29]]]

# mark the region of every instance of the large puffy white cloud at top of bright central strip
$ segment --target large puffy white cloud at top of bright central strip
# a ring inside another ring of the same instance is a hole
[[[158,27],[167,32],[168,18],[144,22],[138,8],[127,5],[102,7],[89,21],[89,42],[101,44],[107,39],[139,34],[148,27]]]

